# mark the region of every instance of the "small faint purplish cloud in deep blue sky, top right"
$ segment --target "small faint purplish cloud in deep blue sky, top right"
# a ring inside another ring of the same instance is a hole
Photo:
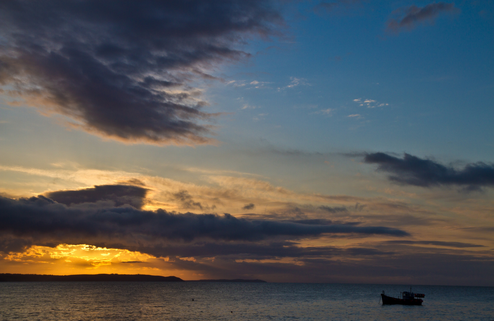
[[[453,3],[446,2],[429,3],[422,8],[412,5],[395,11],[394,13],[399,14],[400,17],[389,20],[387,28],[394,32],[403,29],[411,30],[420,22],[433,21],[441,13],[452,13],[457,10]]]

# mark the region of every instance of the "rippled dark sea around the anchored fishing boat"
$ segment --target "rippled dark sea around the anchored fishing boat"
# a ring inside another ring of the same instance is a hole
[[[494,320],[494,287],[412,285],[422,306],[382,305],[383,290],[410,285],[4,282],[0,320]]]

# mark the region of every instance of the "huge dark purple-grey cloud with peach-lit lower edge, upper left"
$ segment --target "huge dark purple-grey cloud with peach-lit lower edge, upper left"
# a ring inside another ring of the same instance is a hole
[[[0,1],[0,85],[105,137],[208,143],[188,84],[282,24],[268,0]]]

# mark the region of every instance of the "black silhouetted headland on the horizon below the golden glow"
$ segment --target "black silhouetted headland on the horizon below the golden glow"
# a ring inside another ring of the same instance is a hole
[[[10,274],[1,273],[0,282],[74,282],[74,281],[150,281],[150,282],[184,282],[177,277],[162,277],[147,274]]]

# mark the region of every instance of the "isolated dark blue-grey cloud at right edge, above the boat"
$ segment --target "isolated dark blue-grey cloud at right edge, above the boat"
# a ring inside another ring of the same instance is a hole
[[[364,162],[377,164],[378,171],[392,173],[388,178],[400,184],[422,187],[454,184],[467,189],[494,186],[494,164],[470,163],[457,170],[407,153],[402,159],[382,152],[366,154]]]

